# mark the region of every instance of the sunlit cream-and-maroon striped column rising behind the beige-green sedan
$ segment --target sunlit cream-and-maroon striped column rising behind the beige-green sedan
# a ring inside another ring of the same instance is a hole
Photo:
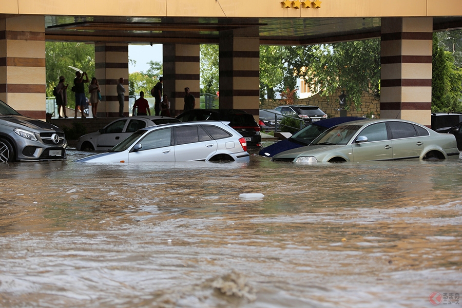
[[[432,17],[382,18],[380,118],[430,127]]]

